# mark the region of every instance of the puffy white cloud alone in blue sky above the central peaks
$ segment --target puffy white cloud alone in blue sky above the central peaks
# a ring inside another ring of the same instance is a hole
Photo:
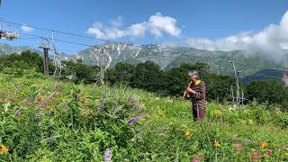
[[[148,22],[134,23],[128,28],[121,28],[121,16],[110,23],[110,26],[103,26],[103,23],[96,22],[86,32],[98,39],[112,40],[122,37],[143,37],[147,32],[155,37],[161,37],[164,33],[173,37],[178,37],[181,34],[181,30],[176,25],[177,21],[175,18],[164,16],[160,13],[151,15]]]

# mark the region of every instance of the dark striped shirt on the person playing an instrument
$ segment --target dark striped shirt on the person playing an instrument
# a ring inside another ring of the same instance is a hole
[[[193,104],[202,104],[202,106],[205,106],[205,103],[206,103],[206,85],[205,85],[205,83],[203,81],[201,81],[197,85],[191,84],[190,88],[196,92],[195,94],[190,93],[192,103]]]

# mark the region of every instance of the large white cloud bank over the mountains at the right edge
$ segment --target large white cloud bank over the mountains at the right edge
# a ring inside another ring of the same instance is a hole
[[[288,11],[279,24],[271,24],[258,32],[242,32],[216,40],[205,38],[187,39],[187,44],[196,49],[237,50],[246,49],[265,53],[282,53],[288,47]]]

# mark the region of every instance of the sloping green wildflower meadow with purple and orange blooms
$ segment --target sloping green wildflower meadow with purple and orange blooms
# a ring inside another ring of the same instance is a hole
[[[1,161],[288,161],[277,106],[191,103],[126,85],[0,76]]]

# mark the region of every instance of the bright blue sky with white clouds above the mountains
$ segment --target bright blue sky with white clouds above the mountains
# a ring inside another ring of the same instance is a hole
[[[286,0],[2,0],[0,18],[96,39],[134,44],[188,46],[196,49],[288,49]],[[50,31],[5,23],[21,39],[0,43],[37,48]],[[87,45],[104,41],[60,33],[54,38]],[[73,54],[85,46],[55,41],[60,52]]]

